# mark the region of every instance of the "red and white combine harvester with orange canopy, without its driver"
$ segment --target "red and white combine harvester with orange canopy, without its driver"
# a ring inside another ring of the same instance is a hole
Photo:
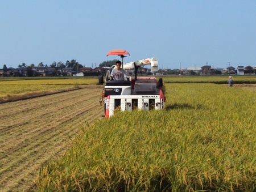
[[[164,97],[163,79],[157,80],[154,76],[137,76],[138,68],[151,65],[151,72],[158,71],[158,59],[155,57],[142,59],[135,62],[123,63],[126,50],[115,49],[109,55],[117,55],[122,58],[122,68],[125,70],[134,69],[134,76],[127,76],[127,80],[110,80],[109,70],[105,76],[105,87],[102,91],[105,117],[113,116],[115,110],[150,110],[163,109]],[[130,55],[130,54],[129,54]],[[112,66],[114,68],[115,66]],[[99,76],[99,83],[104,83],[103,76]]]

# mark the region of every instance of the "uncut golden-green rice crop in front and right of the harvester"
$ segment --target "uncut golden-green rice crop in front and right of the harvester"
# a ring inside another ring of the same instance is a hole
[[[63,157],[40,168],[37,190],[255,191],[254,85],[172,78],[164,110],[118,112],[82,127]]]

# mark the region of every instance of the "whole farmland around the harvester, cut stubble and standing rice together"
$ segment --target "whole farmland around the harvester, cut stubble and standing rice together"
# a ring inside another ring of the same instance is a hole
[[[164,110],[110,119],[97,78],[0,78],[42,93],[0,104],[1,191],[255,191],[256,76],[161,77]]]

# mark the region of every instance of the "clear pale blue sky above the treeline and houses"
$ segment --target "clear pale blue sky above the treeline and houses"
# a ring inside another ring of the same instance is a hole
[[[159,68],[256,66],[256,1],[0,0],[0,68],[157,57]]]

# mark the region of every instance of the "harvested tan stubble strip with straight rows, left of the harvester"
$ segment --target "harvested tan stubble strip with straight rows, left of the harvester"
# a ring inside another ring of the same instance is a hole
[[[100,119],[101,87],[0,104],[0,189],[27,191],[40,166],[64,154],[80,127]]]

